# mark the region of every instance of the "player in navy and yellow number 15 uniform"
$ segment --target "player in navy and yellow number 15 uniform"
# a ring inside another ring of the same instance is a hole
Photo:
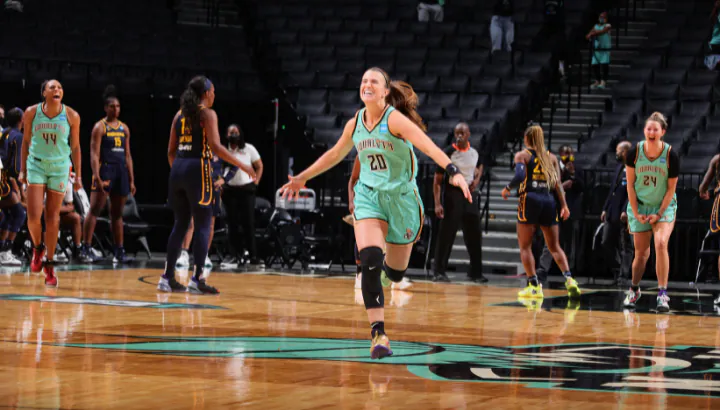
[[[83,225],[84,241],[80,257],[83,262],[94,262],[91,244],[95,224],[110,195],[110,220],[115,242],[113,263],[127,263],[131,259],[125,255],[123,247],[122,214],[128,194],[135,195],[135,177],[130,155],[130,128],[118,119],[120,100],[115,94],[114,86],[110,85],[105,89],[103,100],[105,118],[95,123],[90,136],[92,192],[90,212]]]

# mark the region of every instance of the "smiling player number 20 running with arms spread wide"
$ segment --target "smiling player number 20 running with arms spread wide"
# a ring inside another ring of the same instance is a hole
[[[409,84],[391,82],[385,71],[373,67],[363,75],[360,98],[365,108],[348,121],[335,146],[308,169],[290,176],[281,193],[286,198],[297,196],[308,180],[340,163],[353,146],[357,149],[360,178],[354,187],[355,239],[360,250],[363,301],[372,329],[370,357],[379,359],[392,354],[385,334],[381,272],[393,282],[403,279],[423,223],[413,146],[445,169],[450,183],[460,187],[468,201],[472,197],[458,168],[423,132],[416,111],[418,98]]]

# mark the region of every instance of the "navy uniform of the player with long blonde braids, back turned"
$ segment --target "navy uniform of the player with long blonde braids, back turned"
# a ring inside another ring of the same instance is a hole
[[[520,184],[518,193],[518,222],[528,225],[551,226],[558,223],[558,211],[555,197],[551,193],[535,150],[530,153],[525,180]]]

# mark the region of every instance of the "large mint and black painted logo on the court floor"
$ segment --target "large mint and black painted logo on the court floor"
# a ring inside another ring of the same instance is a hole
[[[368,341],[351,339],[131,336],[126,343],[55,346],[176,356],[380,363],[406,366],[415,376],[438,382],[720,397],[720,350],[700,346],[591,343],[491,347],[393,342],[394,355],[380,361],[370,359]]]

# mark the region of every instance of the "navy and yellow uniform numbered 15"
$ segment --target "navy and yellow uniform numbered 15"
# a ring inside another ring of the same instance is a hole
[[[125,140],[127,138],[127,125],[118,121],[118,126],[113,127],[102,120],[105,127],[100,143],[100,179],[109,181],[105,191],[120,196],[127,196],[130,193],[130,174],[127,169],[125,157]],[[92,190],[103,189],[93,179]]]

